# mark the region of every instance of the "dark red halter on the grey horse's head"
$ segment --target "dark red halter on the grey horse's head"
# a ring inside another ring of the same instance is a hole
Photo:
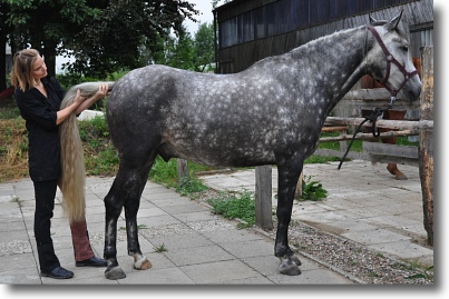
[[[382,39],[380,38],[378,31],[375,31],[374,27],[367,26],[367,29],[372,32],[372,34],[374,36],[375,40],[378,41],[380,48],[382,48],[382,51],[385,54],[385,58],[387,58],[387,73],[385,73],[385,78],[382,81],[380,81],[380,83],[382,86],[384,86],[388,91],[390,91],[390,93],[391,93],[391,103],[392,103],[396,100],[396,96],[398,94],[398,92],[401,91],[401,89],[406,86],[407,81],[411,77],[413,77],[414,74],[418,73],[418,70],[414,70],[412,72],[408,72],[406,70],[406,68],[401,63],[399,63],[399,61],[387,49],[387,47],[383,43]],[[390,78],[391,62],[394,63],[398,67],[398,69],[403,73],[403,77],[404,77],[402,83],[399,86],[398,89],[393,89],[391,87],[391,84],[388,83],[388,79]]]

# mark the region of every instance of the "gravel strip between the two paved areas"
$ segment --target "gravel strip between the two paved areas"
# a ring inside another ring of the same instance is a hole
[[[209,189],[195,199],[206,203],[216,196],[216,192]],[[275,239],[275,230],[255,230]],[[422,266],[416,262],[387,257],[384,253],[369,250],[360,243],[320,231],[300,221],[293,221],[290,226],[289,239],[300,255],[330,267],[359,283],[433,285],[433,269],[422,269]]]

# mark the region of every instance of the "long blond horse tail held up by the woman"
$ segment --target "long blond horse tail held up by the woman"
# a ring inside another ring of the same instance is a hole
[[[74,86],[67,91],[61,102],[61,109],[74,102],[78,89],[81,91],[81,96],[90,97],[98,91],[101,83],[108,83],[109,88],[114,86],[114,82],[86,82]],[[59,126],[59,134],[62,168],[59,188],[62,192],[62,206],[69,216],[70,223],[72,223],[82,221],[86,218],[86,168],[75,112]]]

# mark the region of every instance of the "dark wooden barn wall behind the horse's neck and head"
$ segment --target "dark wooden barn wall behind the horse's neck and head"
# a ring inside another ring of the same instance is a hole
[[[227,4],[217,8],[216,16],[219,28],[219,36],[223,34],[237,34],[238,23],[232,28],[219,27],[221,22],[251,10],[257,9],[262,6],[275,2],[273,0],[254,0],[243,1],[234,0]],[[301,2],[301,1],[299,1]],[[296,3],[299,3],[296,2]],[[335,0],[335,3],[344,3],[344,0]],[[369,1],[363,0],[361,3]],[[381,2],[381,1],[379,1]],[[350,9],[350,8],[346,8]],[[407,32],[410,32],[409,40],[411,42],[412,56],[419,57],[419,48],[422,46],[433,46],[433,1],[432,0],[417,0],[407,3],[379,9],[371,12],[371,16],[378,20],[391,20],[403,9],[402,24]],[[243,14],[242,14],[243,16]],[[313,13],[309,11],[309,18]],[[316,17],[318,18],[318,17]],[[265,38],[253,39],[243,41],[238,44],[231,47],[222,47],[218,49],[217,63],[221,73],[233,73],[242,71],[254,62],[270,56],[285,53],[293,48],[304,44],[316,38],[331,34],[335,31],[363,26],[369,22],[369,13],[357,14],[346,18],[334,19],[325,22],[320,20],[320,24],[306,27],[297,30],[292,30],[285,33],[274,34]],[[318,22],[318,21],[316,21]],[[240,32],[242,33],[242,32]],[[248,32],[248,34],[256,34],[256,32]],[[242,37],[242,34],[240,34]],[[245,37],[245,34],[243,34]],[[253,37],[254,38],[254,37]],[[241,38],[242,39],[242,38]]]

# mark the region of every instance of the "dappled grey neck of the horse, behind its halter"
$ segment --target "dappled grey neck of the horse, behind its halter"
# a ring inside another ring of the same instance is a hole
[[[314,92],[333,108],[364,74],[365,42],[367,31],[359,27],[314,40],[291,53],[301,64],[299,77],[314,78]],[[299,80],[304,81],[302,78]]]

